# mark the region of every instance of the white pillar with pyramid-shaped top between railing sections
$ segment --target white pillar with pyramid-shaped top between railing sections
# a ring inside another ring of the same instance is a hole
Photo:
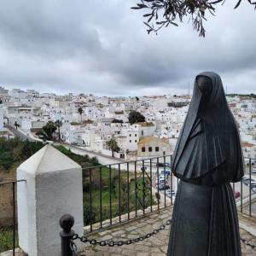
[[[21,249],[29,256],[61,255],[59,219],[70,213],[73,230],[83,234],[82,168],[46,145],[17,169],[18,229]]]

